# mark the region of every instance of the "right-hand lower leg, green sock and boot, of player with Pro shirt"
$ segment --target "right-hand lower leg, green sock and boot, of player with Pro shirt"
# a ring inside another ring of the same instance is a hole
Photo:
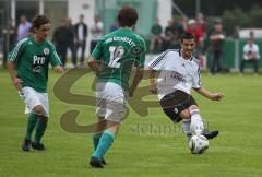
[[[37,126],[36,126],[36,133],[35,133],[35,140],[32,143],[32,148],[35,150],[44,151],[46,150],[45,145],[40,143],[40,140],[45,133],[46,127],[47,127],[48,118],[45,116],[39,116]]]

